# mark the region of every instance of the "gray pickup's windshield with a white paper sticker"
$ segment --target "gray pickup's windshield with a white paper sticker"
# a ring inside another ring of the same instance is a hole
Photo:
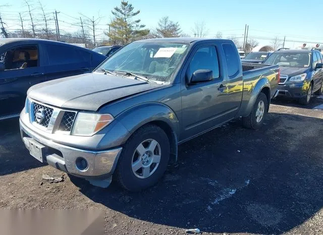
[[[118,50],[97,70],[133,73],[150,80],[170,82],[184,58],[188,44],[160,41],[138,41]]]

